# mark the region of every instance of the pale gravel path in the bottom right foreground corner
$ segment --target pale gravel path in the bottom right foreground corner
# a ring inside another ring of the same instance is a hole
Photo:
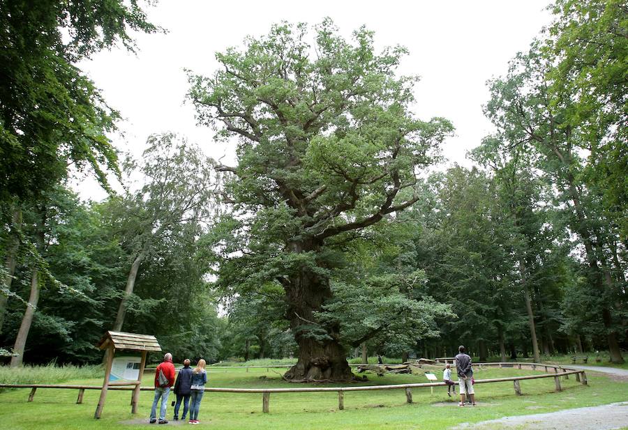
[[[613,430],[628,427],[628,402],[613,403],[590,408],[559,410],[558,412],[539,413],[504,417],[499,420],[463,423],[454,427],[456,430]]]

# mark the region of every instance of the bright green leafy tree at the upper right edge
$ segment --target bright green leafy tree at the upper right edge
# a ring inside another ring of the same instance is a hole
[[[553,100],[567,99],[562,122],[588,151],[584,179],[608,219],[628,237],[628,5],[624,0],[558,0],[545,52]],[[624,266],[624,270],[625,270]]]

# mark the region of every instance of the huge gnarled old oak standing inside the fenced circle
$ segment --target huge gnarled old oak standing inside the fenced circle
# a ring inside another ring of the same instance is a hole
[[[281,284],[299,344],[287,378],[346,380],[339,327],[316,316],[342,259],[329,246],[414,204],[417,174],[452,126],[410,113],[417,78],[395,74],[405,49],[378,54],[371,31],[350,43],[330,20],[311,39],[305,24],[273,26],[217,54],[213,76],[190,75],[189,97],[200,123],[239,141],[237,165],[219,167],[232,173],[234,203],[217,243],[219,284]]]

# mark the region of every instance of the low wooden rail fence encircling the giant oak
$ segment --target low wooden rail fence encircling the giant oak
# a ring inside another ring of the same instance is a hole
[[[549,369],[553,369],[553,373],[543,375],[530,375],[530,376],[511,376],[509,378],[492,378],[492,379],[476,379],[476,384],[486,383],[501,383],[501,382],[513,382],[515,394],[521,395],[521,383],[520,381],[528,381],[530,379],[541,378],[554,378],[555,391],[562,391],[560,385],[560,377],[565,379],[569,378],[569,375],[574,375],[576,381],[586,385],[588,383],[587,376],[584,370],[581,369],[569,369],[569,367],[562,367],[553,364],[537,364],[537,363],[521,363],[521,362],[495,362],[495,363],[479,363],[474,364],[477,367],[517,367],[522,369],[523,367],[529,367],[530,369],[544,369],[548,372]],[[251,366],[252,368],[268,367],[268,366]],[[278,366],[285,367],[285,366]],[[286,393],[286,392],[336,392],[338,394],[338,409],[343,410],[344,393],[352,391],[371,391],[371,390],[404,390],[405,398],[408,403],[412,403],[412,389],[423,387],[443,387],[447,386],[444,382],[431,382],[431,383],[415,383],[415,384],[398,384],[398,385],[368,385],[359,387],[290,387],[290,388],[220,388],[220,387],[206,387],[206,392],[237,392],[237,393],[261,393],[262,394],[262,412],[269,412],[270,408],[270,394],[271,393]],[[0,387],[6,388],[31,388],[28,401],[33,401],[36,390],[38,388],[55,388],[55,389],[68,389],[79,390],[77,397],[77,404],[81,404],[83,401],[83,394],[85,390],[101,390],[102,387],[96,385],[49,385],[49,384],[0,384]],[[110,390],[123,390],[133,391],[134,387],[112,386]],[[153,391],[154,387],[140,387],[142,391]]]

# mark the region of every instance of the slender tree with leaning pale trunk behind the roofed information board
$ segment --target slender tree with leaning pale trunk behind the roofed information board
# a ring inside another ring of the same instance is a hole
[[[113,330],[122,330],[140,265],[158,243],[176,243],[190,225],[209,222],[214,170],[198,148],[176,135],[149,138],[140,171],[147,183],[112,205],[110,223],[130,255]],[[200,234],[200,232],[198,232]]]

